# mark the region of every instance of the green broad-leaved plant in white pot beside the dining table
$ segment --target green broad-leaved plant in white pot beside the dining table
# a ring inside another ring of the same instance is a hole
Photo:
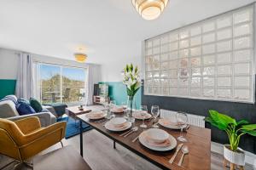
[[[247,133],[256,136],[256,124],[249,124],[245,120],[236,122],[236,119],[212,110],[209,111],[209,116],[205,120],[227,133],[230,144],[224,144],[224,158],[230,163],[244,166],[245,153],[238,145],[242,135]]]

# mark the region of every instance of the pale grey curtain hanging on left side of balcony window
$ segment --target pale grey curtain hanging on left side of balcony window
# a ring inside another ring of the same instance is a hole
[[[32,55],[20,53],[15,95],[25,99],[34,97],[34,87]]]

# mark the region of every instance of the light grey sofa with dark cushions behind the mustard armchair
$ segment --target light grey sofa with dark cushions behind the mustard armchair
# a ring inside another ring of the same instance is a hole
[[[7,118],[11,121],[15,121],[29,116],[38,116],[41,125],[47,127],[56,122],[56,117],[54,115],[55,111],[50,106],[43,106],[43,108],[46,108],[49,111],[46,110],[44,112],[20,116],[16,110],[15,103],[12,100],[3,100],[0,101],[0,118]]]

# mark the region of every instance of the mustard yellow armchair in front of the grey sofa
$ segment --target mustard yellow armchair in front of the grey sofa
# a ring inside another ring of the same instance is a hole
[[[0,118],[0,153],[24,162],[49,146],[61,142],[65,133],[66,122],[41,127],[36,116],[15,122]]]

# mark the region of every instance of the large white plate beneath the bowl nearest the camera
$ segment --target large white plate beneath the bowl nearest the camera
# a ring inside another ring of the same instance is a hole
[[[168,150],[173,150],[176,146],[177,146],[177,140],[171,135],[169,134],[169,140],[171,142],[171,144],[167,147],[156,147],[156,146],[152,146],[151,144],[148,144],[148,142],[146,141],[146,139],[144,138],[145,134],[147,131],[144,131],[143,133],[141,133],[139,135],[139,141],[141,144],[143,144],[145,147],[147,147],[150,150],[156,150],[156,151],[168,151]]]

